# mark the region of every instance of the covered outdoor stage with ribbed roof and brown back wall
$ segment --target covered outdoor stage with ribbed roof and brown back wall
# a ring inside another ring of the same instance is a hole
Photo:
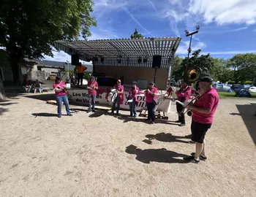
[[[180,42],[180,37],[99,39],[57,41],[54,47],[72,55],[72,58],[79,56],[80,60],[92,61],[93,74],[98,79],[121,79],[127,85],[137,81],[138,86],[143,89],[148,82],[154,81],[156,75],[157,87],[165,90]]]

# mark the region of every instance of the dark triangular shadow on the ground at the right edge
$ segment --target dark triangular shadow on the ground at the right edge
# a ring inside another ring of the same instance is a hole
[[[244,124],[246,125],[253,142],[255,142],[256,145],[256,104],[237,104],[236,107],[239,111],[239,115],[241,115],[244,120]]]

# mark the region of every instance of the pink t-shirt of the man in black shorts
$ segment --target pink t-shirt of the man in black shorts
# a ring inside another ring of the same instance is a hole
[[[197,123],[213,123],[214,122],[214,113],[219,104],[219,95],[215,88],[211,88],[208,92],[204,93],[200,98],[195,101],[197,107],[203,107],[205,109],[211,109],[209,114],[203,114],[197,112],[195,109],[192,110],[192,119]]]

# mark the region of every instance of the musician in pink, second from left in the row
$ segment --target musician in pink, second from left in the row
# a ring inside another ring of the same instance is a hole
[[[98,83],[95,80],[94,76],[91,76],[89,82],[88,82],[88,92],[90,95],[89,99],[89,111],[88,112],[95,112],[95,101],[96,101],[96,96],[97,96],[97,90],[98,90]]]

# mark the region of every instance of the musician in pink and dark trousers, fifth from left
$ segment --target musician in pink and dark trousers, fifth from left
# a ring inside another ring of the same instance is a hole
[[[145,96],[148,110],[147,120],[150,120],[151,124],[154,124],[155,120],[154,108],[156,107],[156,104],[154,100],[157,100],[157,92],[158,90],[154,87],[154,82],[150,82],[148,89],[145,91]]]

